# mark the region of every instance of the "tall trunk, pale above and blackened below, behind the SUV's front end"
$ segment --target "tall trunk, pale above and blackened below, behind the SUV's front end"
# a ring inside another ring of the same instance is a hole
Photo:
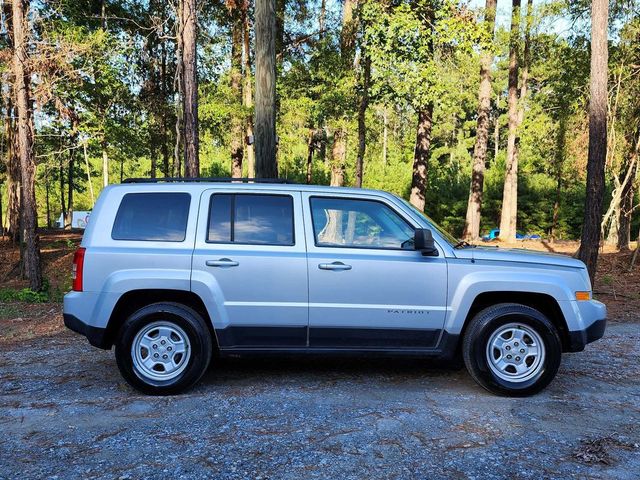
[[[604,166],[607,158],[607,28],[609,2],[591,4],[591,86],[589,101],[589,156],[587,195],[578,258],[589,271],[593,283],[600,247],[600,221],[604,195]]]

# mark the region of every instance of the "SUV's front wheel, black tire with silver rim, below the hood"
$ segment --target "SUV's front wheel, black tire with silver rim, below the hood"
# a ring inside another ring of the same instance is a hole
[[[473,379],[490,392],[527,396],[555,377],[562,343],[556,327],[538,310],[502,303],[471,320],[462,354]]]

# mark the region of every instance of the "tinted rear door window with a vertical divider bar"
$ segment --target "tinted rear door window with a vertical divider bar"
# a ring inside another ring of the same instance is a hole
[[[211,195],[207,242],[294,245],[288,195]]]

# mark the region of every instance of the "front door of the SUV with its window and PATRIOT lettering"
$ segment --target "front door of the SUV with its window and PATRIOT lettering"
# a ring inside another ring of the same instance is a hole
[[[311,348],[436,346],[446,313],[443,253],[413,250],[417,225],[382,196],[303,194]]]

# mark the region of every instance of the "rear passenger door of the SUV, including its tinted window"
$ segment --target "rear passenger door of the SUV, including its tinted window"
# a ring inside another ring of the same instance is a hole
[[[306,346],[306,249],[296,218],[301,208],[299,192],[203,193],[192,289],[207,298],[221,348]]]

